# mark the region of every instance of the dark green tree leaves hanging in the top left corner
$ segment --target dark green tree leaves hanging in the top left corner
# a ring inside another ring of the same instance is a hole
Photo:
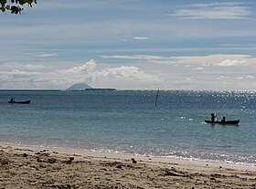
[[[37,4],[37,0],[0,0],[2,12],[10,11],[12,14],[18,14],[23,11],[24,5],[32,7],[33,4]]]

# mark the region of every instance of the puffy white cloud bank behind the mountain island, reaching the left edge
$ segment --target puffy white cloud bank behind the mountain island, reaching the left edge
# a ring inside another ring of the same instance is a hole
[[[33,66],[33,70],[31,70]],[[98,68],[91,59],[71,68],[56,68],[48,71],[40,65],[5,64],[0,68],[0,88],[5,89],[66,89],[74,83],[86,82],[91,86],[133,89],[136,86],[148,86],[161,82],[159,75],[149,74],[134,66]]]

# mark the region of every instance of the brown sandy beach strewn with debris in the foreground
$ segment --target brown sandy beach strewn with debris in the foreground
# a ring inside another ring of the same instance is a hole
[[[250,165],[0,146],[0,189],[255,187]]]

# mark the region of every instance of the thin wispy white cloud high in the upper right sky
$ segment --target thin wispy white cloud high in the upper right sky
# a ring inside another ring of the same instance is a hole
[[[251,16],[252,12],[244,3],[224,2],[212,4],[194,4],[185,9],[176,10],[175,14],[184,19],[244,19]]]

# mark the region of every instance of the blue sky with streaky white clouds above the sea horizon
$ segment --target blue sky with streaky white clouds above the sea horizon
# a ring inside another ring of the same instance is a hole
[[[0,13],[0,89],[256,89],[255,0],[37,0]]]

